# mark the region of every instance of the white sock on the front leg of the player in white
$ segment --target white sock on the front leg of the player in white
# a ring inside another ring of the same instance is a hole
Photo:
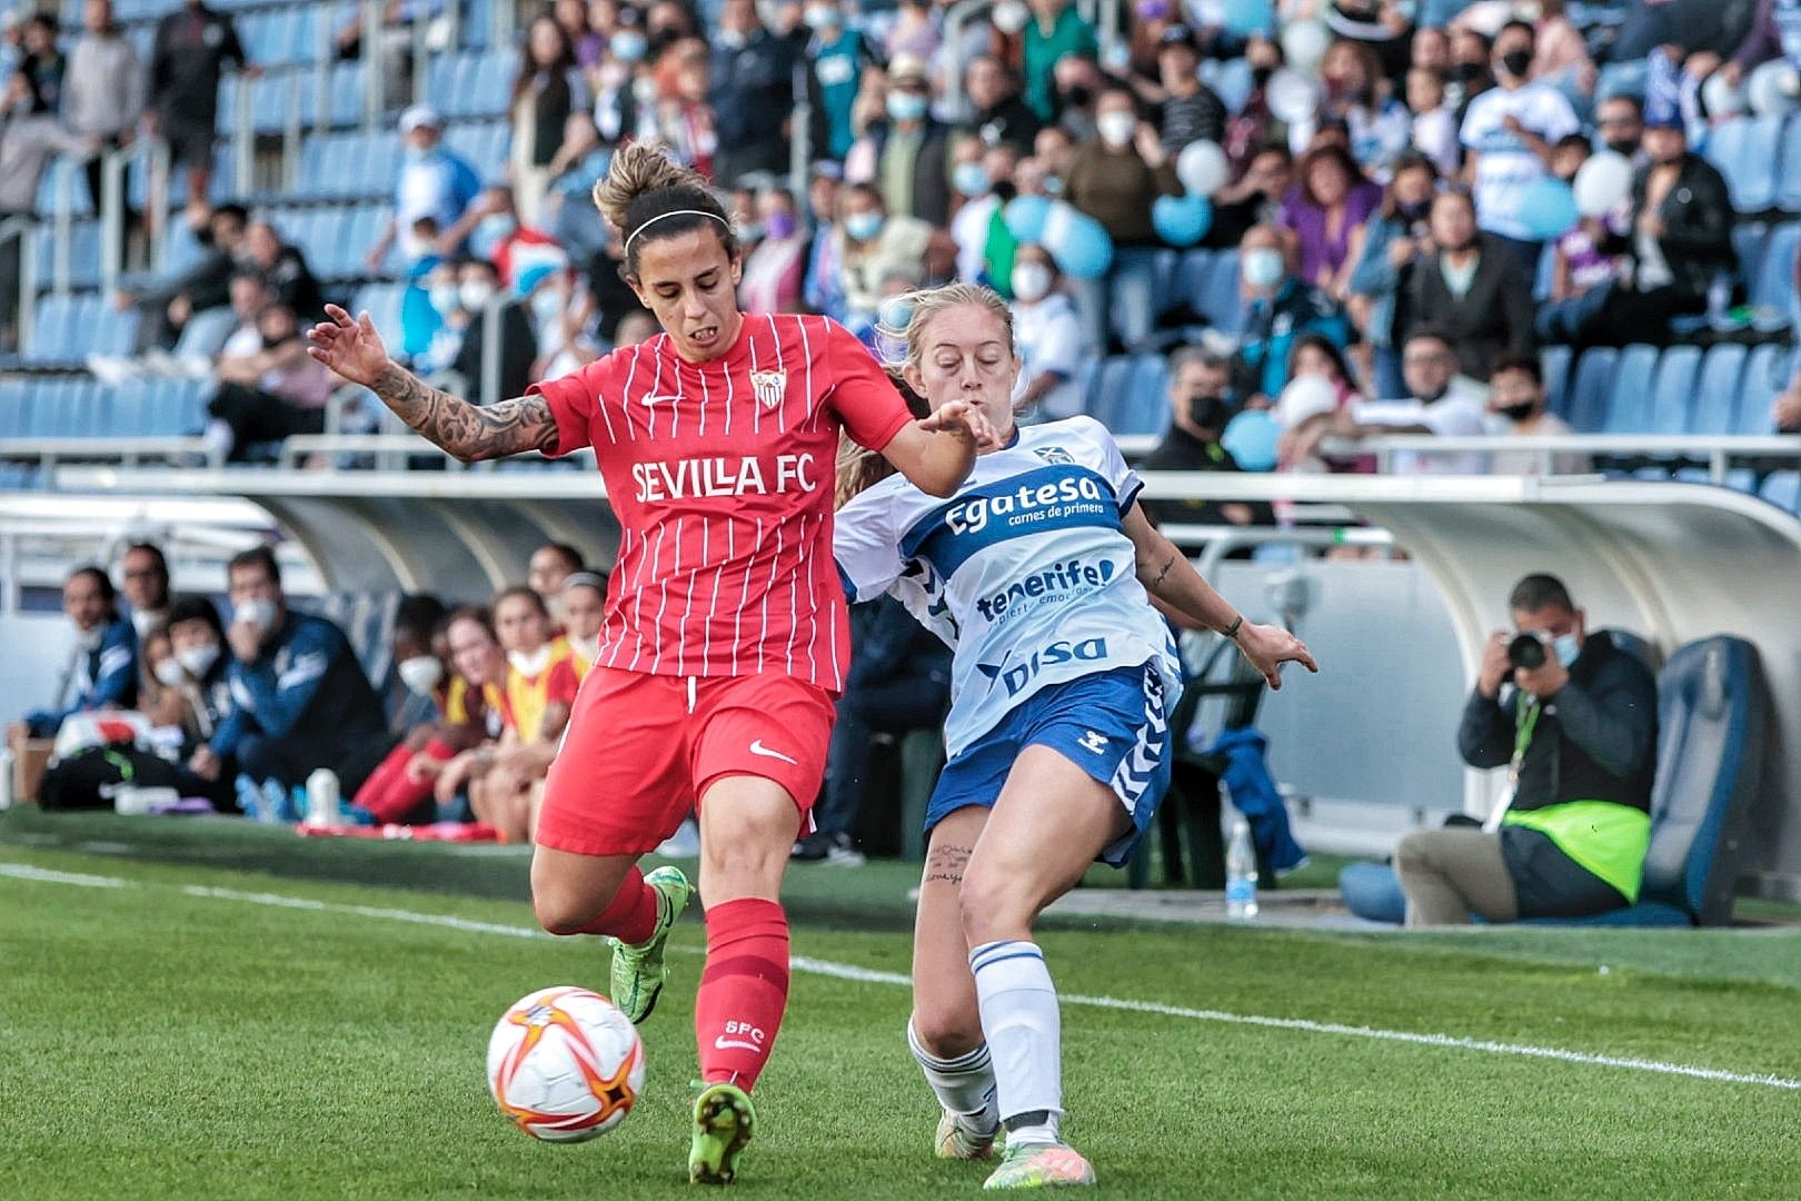
[[[1045,953],[1034,942],[989,942],[969,953],[969,971],[976,976],[1007,1140],[1057,1142],[1063,1023]]]

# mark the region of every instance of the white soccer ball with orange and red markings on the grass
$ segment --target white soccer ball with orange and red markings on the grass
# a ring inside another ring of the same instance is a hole
[[[645,1086],[645,1044],[612,1001],[557,985],[520,998],[488,1039],[488,1088],[533,1138],[580,1143],[625,1122]]]

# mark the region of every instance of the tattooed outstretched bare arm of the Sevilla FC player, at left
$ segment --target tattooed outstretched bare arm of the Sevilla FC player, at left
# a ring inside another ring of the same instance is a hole
[[[369,313],[355,321],[326,304],[326,321],[306,333],[306,353],[351,384],[362,384],[402,421],[463,463],[557,447],[557,421],[542,396],[515,396],[481,407],[429,385],[393,358]]]

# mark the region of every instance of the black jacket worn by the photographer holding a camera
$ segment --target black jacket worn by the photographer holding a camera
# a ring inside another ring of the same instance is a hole
[[[1506,700],[1470,695],[1457,729],[1466,763],[1500,767],[1513,758],[1518,700],[1518,691]],[[1592,634],[1570,666],[1570,682],[1538,715],[1513,808],[1612,801],[1650,812],[1655,767],[1657,681],[1606,634]]]

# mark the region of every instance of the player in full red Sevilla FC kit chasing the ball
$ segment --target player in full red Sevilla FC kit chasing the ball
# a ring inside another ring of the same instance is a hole
[[[944,497],[992,432],[962,403],[915,421],[828,319],[738,312],[742,250],[724,207],[659,151],[614,153],[594,203],[663,335],[486,409],[389,360],[367,313],[328,308],[312,353],[465,461],[594,447],[623,537],[600,657],[546,785],[531,900],[553,933],[612,938],[612,999],[641,1021],[690,889],[675,868],[647,879],[636,862],[697,807],[708,963],[688,1174],[726,1183],[787,1001],[782,875],[850,666],[832,560],[837,432]]]

